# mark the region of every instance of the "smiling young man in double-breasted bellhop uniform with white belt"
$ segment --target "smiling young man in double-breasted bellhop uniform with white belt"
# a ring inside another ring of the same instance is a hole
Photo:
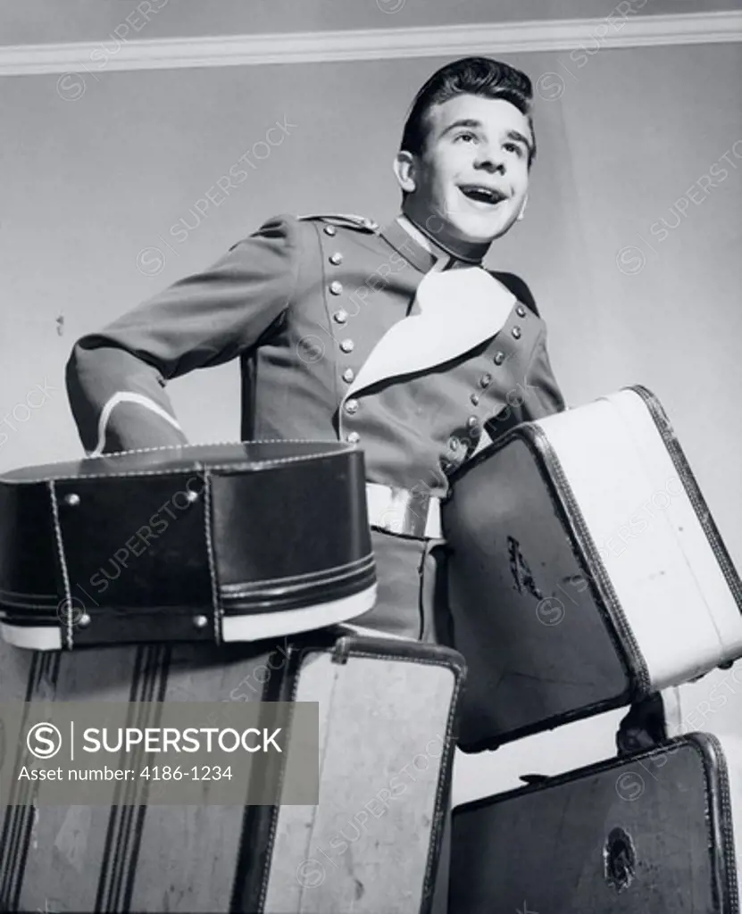
[[[506,426],[564,408],[525,282],[482,258],[525,212],[532,88],[487,58],[440,69],[405,124],[385,228],[282,216],[75,346],[90,453],[185,441],[165,383],[239,358],[249,439],[364,449],[379,581],[360,625],[435,640],[440,499]]]

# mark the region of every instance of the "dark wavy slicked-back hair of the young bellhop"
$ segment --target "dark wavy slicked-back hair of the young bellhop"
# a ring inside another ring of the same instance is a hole
[[[519,69],[491,58],[461,58],[437,70],[415,96],[402,133],[400,151],[422,154],[428,138],[430,109],[457,95],[481,95],[503,99],[525,114],[531,128],[533,145],[528,166],[535,158],[535,133],[532,114],[534,90],[531,80]]]

